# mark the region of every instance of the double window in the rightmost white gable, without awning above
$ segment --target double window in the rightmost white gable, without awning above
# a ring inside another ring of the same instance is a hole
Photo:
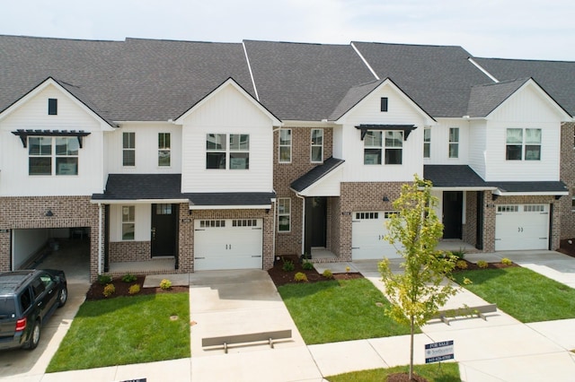
[[[508,128],[505,159],[508,161],[540,161],[541,129]]]

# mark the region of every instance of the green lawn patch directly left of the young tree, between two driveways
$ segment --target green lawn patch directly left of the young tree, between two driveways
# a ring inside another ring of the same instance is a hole
[[[286,284],[278,291],[307,344],[410,333],[385,315],[390,304],[367,279]]]

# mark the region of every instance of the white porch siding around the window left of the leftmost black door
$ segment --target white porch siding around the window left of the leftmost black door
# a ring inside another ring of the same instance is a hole
[[[122,206],[135,206],[134,241],[150,240],[152,229],[151,204],[111,204],[110,206],[110,241],[122,241]]]

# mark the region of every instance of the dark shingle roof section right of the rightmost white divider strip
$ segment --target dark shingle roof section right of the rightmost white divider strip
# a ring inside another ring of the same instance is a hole
[[[575,115],[575,62],[480,57],[473,60],[499,81],[532,77],[563,109]]]

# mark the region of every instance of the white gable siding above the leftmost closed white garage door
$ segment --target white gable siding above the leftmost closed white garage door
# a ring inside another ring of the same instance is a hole
[[[270,192],[272,121],[229,85],[214,94],[182,126],[183,192]],[[206,169],[207,134],[249,134],[250,169]]]

